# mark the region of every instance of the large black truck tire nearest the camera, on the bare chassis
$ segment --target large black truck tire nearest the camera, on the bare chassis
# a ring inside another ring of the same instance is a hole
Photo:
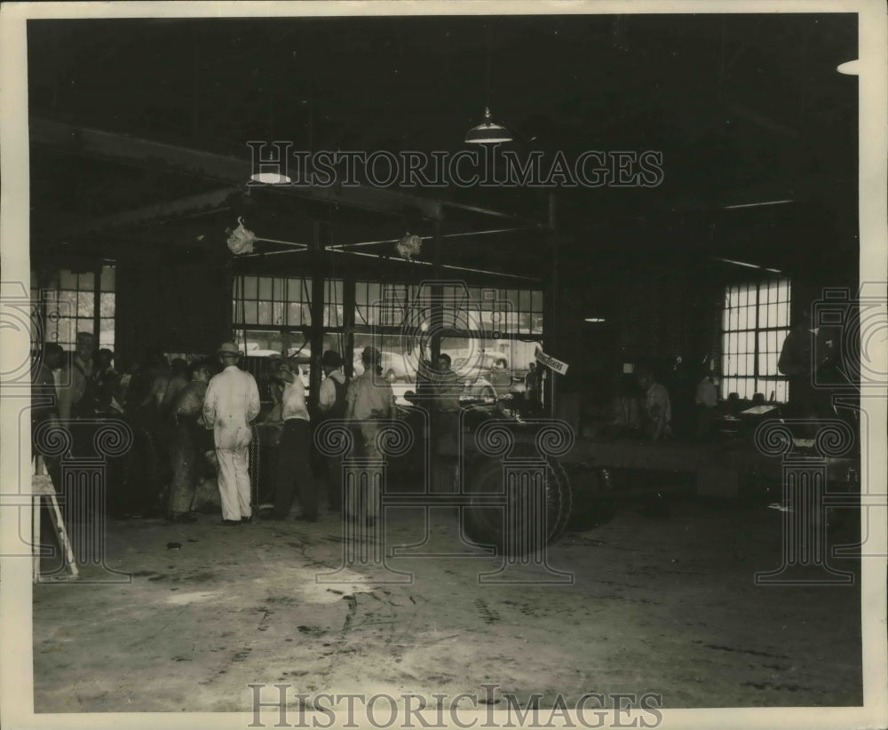
[[[468,470],[465,488],[472,495],[503,495],[503,464],[493,459],[484,459]],[[546,544],[557,540],[567,528],[571,504],[571,487],[567,473],[558,462],[547,460]],[[527,554],[532,547],[527,544],[527,536],[506,535],[506,512],[507,507],[504,504],[491,505],[481,499],[473,499],[463,508],[465,534],[473,543],[495,545],[499,553]]]

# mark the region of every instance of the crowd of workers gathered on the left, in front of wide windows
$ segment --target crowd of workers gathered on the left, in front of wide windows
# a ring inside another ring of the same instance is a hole
[[[125,421],[134,434],[131,453],[109,460],[107,510],[113,516],[165,516],[173,522],[194,522],[198,484],[217,475],[222,524],[253,520],[258,506],[250,479],[250,444],[262,403],[258,383],[238,367],[242,353],[234,343],[221,345],[215,357],[168,362],[161,353],[123,371],[113,367],[114,354],[96,350],[95,337],[80,333],[74,352],[59,345],[44,347],[33,368],[32,435],[57,490],[60,465],[67,456],[91,456],[92,434],[103,419]],[[360,456],[381,458],[377,432],[385,419],[397,417],[392,385],[382,377],[381,354],[375,347],[361,353],[363,372],[349,379],[342,357],[323,353],[316,405],[310,407],[297,363],[278,356],[268,360],[266,376],[273,408],[261,418],[266,439],[273,440],[276,464],[268,480],[272,506],[258,515],[286,520],[296,499],[299,520],[315,521],[326,482],[331,512],[341,512],[342,465],[320,455],[314,444],[317,427],[330,418],[350,422]],[[457,378],[447,355],[433,387],[442,418],[459,407]],[[46,448],[47,426],[67,432],[70,449],[59,456]],[[274,435],[270,435],[274,434]],[[255,444],[254,444],[255,446]],[[318,468],[318,464],[321,468]],[[345,505],[346,517],[372,523],[377,505],[361,510]]]

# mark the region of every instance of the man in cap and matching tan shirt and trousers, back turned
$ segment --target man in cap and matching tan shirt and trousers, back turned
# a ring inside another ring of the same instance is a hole
[[[363,456],[382,462],[383,456],[377,448],[379,421],[397,417],[398,411],[395,409],[392,385],[382,377],[380,361],[382,355],[376,347],[364,348],[364,352],[361,353],[364,372],[348,384],[345,393],[345,417],[356,422],[361,433]],[[373,481],[370,480],[371,483]],[[346,512],[352,519],[364,517],[368,524],[372,524],[379,512],[378,498],[379,495],[375,495],[367,500],[367,511],[363,515],[357,513],[354,504],[346,505]]]

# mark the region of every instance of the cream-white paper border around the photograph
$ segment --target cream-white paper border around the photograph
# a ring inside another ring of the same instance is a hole
[[[29,281],[28,220],[28,81],[26,22],[37,19],[98,18],[191,18],[260,16],[351,16],[351,15],[482,15],[482,14],[657,14],[657,13],[818,13],[857,12],[859,14],[860,52],[860,280],[874,272],[884,278],[888,270],[888,123],[886,123],[886,7],[882,0],[683,0],[682,2],[590,2],[569,0],[564,3],[496,2],[496,0],[453,0],[453,2],[115,2],[115,3],[4,3],[0,8],[0,245],[2,245],[4,296],[8,282]],[[27,289],[27,287],[26,287]],[[883,291],[884,297],[884,291]],[[27,333],[0,331],[0,372],[12,372],[16,363],[28,361]],[[883,357],[884,352],[880,353]],[[880,370],[885,372],[886,369]],[[0,484],[4,500],[15,493],[29,494],[30,486],[20,483],[20,464],[30,463],[30,444],[19,440],[21,409],[28,406],[28,394],[16,396],[3,389],[0,400]],[[868,491],[884,493],[886,458],[885,393],[864,393],[861,403],[868,411],[872,432],[861,444],[861,459],[867,464]],[[16,448],[18,447],[18,448]],[[3,504],[3,506],[7,506]],[[34,714],[32,660],[32,565],[29,559],[10,556],[19,536],[19,520],[30,525],[24,515],[28,508],[7,506],[0,510],[0,647],[3,671],[0,674],[0,706],[5,726],[15,728],[48,727],[237,727],[247,726],[250,712],[243,713],[70,713]],[[20,516],[21,515],[21,516]],[[871,506],[861,510],[861,520],[869,518],[871,547],[885,552],[886,509]],[[29,527],[28,527],[29,530]],[[20,546],[19,546],[20,547]],[[806,727],[879,727],[888,722],[888,670],[885,656],[888,639],[885,632],[885,565],[882,559],[861,561],[861,620],[864,705],[860,708],[741,708],[712,710],[662,710],[662,726],[725,728],[767,726],[770,728]],[[477,713],[479,726],[487,710]],[[468,711],[464,718],[472,718]]]

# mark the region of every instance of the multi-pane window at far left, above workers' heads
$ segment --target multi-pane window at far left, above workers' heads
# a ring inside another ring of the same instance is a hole
[[[98,334],[99,347],[115,344],[115,267],[90,271],[59,269],[38,277],[43,309],[44,338],[73,350],[77,332]],[[36,293],[36,292],[35,292]]]

